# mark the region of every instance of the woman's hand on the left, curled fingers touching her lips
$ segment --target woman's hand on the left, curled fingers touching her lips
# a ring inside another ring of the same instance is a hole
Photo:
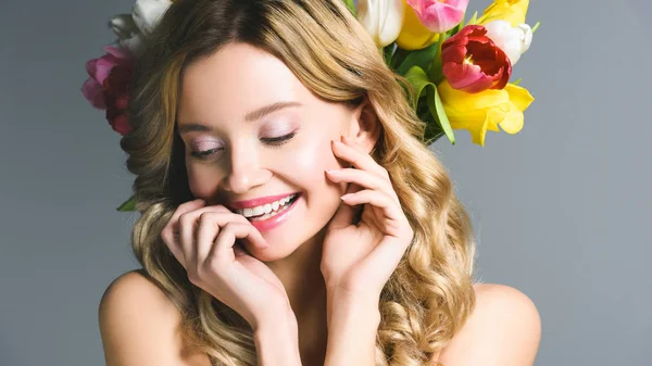
[[[236,242],[256,249],[269,245],[244,216],[223,205],[189,201],[177,207],[161,237],[190,282],[238,312],[254,330],[290,311],[278,277]]]

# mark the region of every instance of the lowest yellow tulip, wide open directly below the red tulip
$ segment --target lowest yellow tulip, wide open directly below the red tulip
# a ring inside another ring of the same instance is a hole
[[[474,143],[485,146],[487,130],[516,134],[523,128],[523,112],[535,100],[529,91],[514,84],[503,89],[468,93],[453,89],[448,80],[438,87],[443,110],[455,129],[467,129]]]

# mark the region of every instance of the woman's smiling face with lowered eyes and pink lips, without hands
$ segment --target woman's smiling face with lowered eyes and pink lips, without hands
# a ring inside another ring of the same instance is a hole
[[[346,186],[324,171],[347,165],[330,141],[355,138],[358,112],[318,99],[273,55],[230,43],[184,74],[177,123],[190,190],[208,205],[259,215],[249,220],[271,247],[248,249],[263,261],[283,258],[340,204]]]

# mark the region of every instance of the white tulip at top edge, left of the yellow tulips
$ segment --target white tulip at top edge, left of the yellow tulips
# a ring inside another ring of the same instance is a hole
[[[385,47],[399,38],[405,4],[403,0],[360,0],[358,20],[379,47]]]

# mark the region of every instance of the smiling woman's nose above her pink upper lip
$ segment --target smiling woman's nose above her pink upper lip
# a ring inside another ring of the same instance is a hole
[[[242,194],[254,187],[264,185],[272,172],[262,166],[255,148],[240,143],[229,150],[229,169],[223,180],[223,189],[234,194]]]

